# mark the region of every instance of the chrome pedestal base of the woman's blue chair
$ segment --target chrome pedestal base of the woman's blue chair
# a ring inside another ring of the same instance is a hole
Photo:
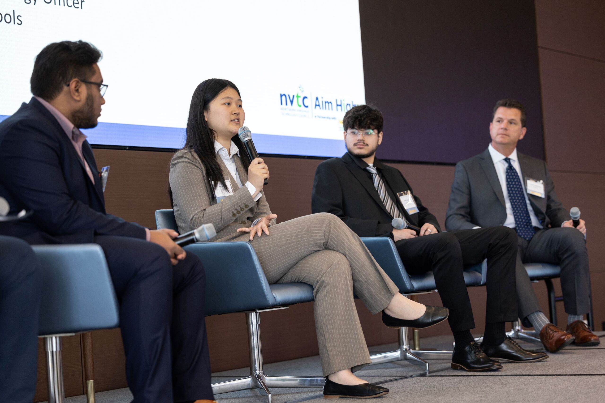
[[[325,378],[322,377],[265,375],[263,370],[263,349],[261,347],[260,312],[258,310],[246,312],[250,349],[250,375],[246,376],[246,378],[212,384],[212,393],[219,395],[220,393],[237,392],[238,390],[261,389],[267,395],[267,401],[271,403],[270,387],[323,387]]]

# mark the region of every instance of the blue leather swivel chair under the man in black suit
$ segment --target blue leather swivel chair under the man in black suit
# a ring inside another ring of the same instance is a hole
[[[399,292],[405,295],[425,294],[436,289],[435,278],[432,271],[424,274],[408,274],[404,264],[401,262],[395,243],[388,237],[363,237],[365,243],[376,262],[393,280]],[[484,285],[486,281],[487,262],[474,265],[464,270],[466,286]],[[414,350],[410,347],[409,329],[399,328],[399,347],[397,350],[371,355],[372,364],[390,363],[406,359],[410,363],[417,364],[429,370],[429,364],[425,359],[447,359],[452,352],[448,350]]]

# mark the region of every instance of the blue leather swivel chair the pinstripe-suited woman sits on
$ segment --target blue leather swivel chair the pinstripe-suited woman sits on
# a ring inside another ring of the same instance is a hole
[[[158,229],[177,229],[172,210],[155,210]],[[260,312],[286,309],[313,301],[313,287],[304,283],[269,284],[258,257],[248,242],[193,243],[185,247],[198,256],[206,272],[206,316],[246,312],[250,375],[212,384],[212,392],[258,388],[271,401],[270,387],[322,387],[324,378],[265,375],[260,337]]]

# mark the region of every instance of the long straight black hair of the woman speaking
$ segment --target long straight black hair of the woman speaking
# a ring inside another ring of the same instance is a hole
[[[185,146],[183,149],[192,150],[200,157],[200,161],[206,168],[206,177],[212,187],[214,182],[214,189],[219,183],[226,187],[223,171],[217,161],[217,154],[214,150],[214,135],[215,132],[208,126],[208,122],[204,119],[204,111],[208,111],[210,103],[218,94],[223,92],[226,88],[233,88],[240,95],[240,90],[237,89],[234,83],[229,80],[223,79],[208,79],[200,83],[195,88],[193,96],[191,97],[191,106],[189,106],[189,117],[187,119],[187,137],[185,140]],[[241,96],[241,95],[240,95]],[[244,167],[248,169],[250,160],[246,153],[244,143],[240,140],[238,135],[231,138],[231,141],[240,149],[241,160],[244,163]],[[172,191],[169,189],[170,199],[172,202]]]

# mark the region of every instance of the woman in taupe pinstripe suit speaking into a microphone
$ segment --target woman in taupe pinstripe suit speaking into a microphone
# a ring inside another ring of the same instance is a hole
[[[170,167],[174,214],[180,233],[214,224],[219,241],[250,242],[269,283],[313,286],[314,311],[325,396],[373,397],[388,389],[353,372],[370,363],[353,291],[392,327],[427,327],[448,311],[408,300],[382,271],[358,236],[333,214],[276,224],[264,197],[269,169],[248,161],[238,129],[244,123],[234,83],[209,79],[191,100],[185,147]],[[241,150],[241,152],[240,152]]]

